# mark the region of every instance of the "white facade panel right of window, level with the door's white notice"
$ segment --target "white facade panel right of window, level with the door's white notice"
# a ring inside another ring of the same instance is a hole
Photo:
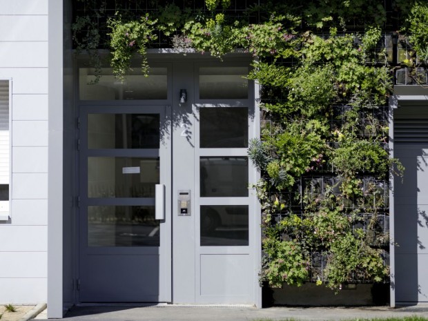
[[[12,148],[13,173],[48,173],[48,147]]]

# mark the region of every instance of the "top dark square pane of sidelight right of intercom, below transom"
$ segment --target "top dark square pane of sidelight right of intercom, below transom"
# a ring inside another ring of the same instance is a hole
[[[248,148],[248,108],[201,108],[201,148]]]

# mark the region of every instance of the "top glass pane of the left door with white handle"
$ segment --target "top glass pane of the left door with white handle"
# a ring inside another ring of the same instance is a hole
[[[88,148],[159,148],[159,114],[88,114]]]

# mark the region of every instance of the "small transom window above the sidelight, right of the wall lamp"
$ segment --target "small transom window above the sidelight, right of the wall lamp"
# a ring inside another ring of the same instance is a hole
[[[200,99],[247,99],[246,67],[202,67],[199,70]]]

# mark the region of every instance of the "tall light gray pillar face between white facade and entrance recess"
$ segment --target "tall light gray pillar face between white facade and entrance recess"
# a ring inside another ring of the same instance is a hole
[[[21,3],[23,1],[20,1]],[[46,4],[45,1],[38,1]],[[48,0],[48,318],[63,316],[63,1]],[[41,80],[35,83],[42,82]],[[46,93],[46,92],[45,92]]]

